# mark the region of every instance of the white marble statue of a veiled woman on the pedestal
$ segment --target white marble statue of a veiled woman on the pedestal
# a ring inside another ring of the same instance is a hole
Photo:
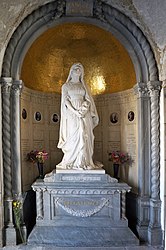
[[[91,94],[84,82],[82,64],[74,64],[62,86],[61,121],[58,148],[64,156],[56,166],[60,169],[95,169],[92,159],[93,129],[99,118]]]

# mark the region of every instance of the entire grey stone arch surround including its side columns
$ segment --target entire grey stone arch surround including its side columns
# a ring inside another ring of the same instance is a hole
[[[12,190],[21,192],[20,70],[33,41],[47,29],[64,22],[86,22],[110,31],[128,51],[136,72],[138,105],[137,230],[151,245],[162,242],[159,197],[159,95],[161,83],[153,51],[143,32],[123,13],[101,0],[84,0],[72,12],[75,0],[47,3],[27,16],[13,33],[2,68],[2,133],[6,244],[11,239]],[[77,1],[78,3],[78,1]],[[86,6],[85,6],[86,5]],[[80,6],[80,8],[79,8]],[[85,8],[84,8],[85,7]],[[82,12],[84,9],[84,13]],[[12,126],[11,126],[12,124]],[[13,155],[15,157],[13,157]],[[11,239],[14,241],[14,239]]]

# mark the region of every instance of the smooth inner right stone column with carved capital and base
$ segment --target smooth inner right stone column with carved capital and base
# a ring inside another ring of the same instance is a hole
[[[138,218],[137,230],[141,241],[148,240],[150,206],[150,96],[146,83],[137,83],[138,108]]]

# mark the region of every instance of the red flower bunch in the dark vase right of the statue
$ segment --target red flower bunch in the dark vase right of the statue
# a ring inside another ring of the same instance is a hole
[[[109,155],[109,161],[112,161],[115,164],[123,164],[131,160],[128,153],[124,153],[120,151],[112,151],[108,153],[108,155]]]

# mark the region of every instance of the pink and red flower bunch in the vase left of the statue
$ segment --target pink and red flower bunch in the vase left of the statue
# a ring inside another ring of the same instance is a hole
[[[44,163],[48,159],[48,153],[45,150],[31,150],[30,153],[27,154],[27,160],[33,163],[39,162]]]

